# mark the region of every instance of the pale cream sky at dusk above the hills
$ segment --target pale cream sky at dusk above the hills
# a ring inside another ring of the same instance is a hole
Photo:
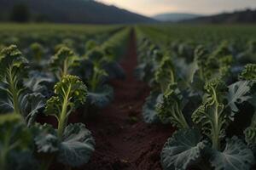
[[[256,0],[97,0],[153,16],[154,14],[182,12],[193,14],[218,14],[235,9],[256,8]]]

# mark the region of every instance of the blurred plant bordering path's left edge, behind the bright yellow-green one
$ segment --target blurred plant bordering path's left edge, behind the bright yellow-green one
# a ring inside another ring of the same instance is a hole
[[[116,71],[113,66],[108,65],[111,61],[106,57],[102,48],[96,46],[87,51],[84,62],[89,65],[86,68],[86,79],[88,84],[88,102],[87,109],[101,109],[113,100],[113,88],[106,84],[108,78],[107,71]],[[106,69],[108,66],[108,70]],[[111,67],[111,68],[110,68]],[[82,72],[84,69],[81,68]],[[110,73],[111,74],[111,73]]]

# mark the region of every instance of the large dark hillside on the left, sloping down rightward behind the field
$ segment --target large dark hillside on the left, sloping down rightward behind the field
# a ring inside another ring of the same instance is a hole
[[[156,20],[93,0],[0,0],[0,20],[9,21],[15,4],[26,4],[30,20],[56,23],[131,24]]]

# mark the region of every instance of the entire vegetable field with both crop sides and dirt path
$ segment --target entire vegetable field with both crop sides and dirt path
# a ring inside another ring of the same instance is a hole
[[[253,170],[256,26],[0,25],[0,169]]]

